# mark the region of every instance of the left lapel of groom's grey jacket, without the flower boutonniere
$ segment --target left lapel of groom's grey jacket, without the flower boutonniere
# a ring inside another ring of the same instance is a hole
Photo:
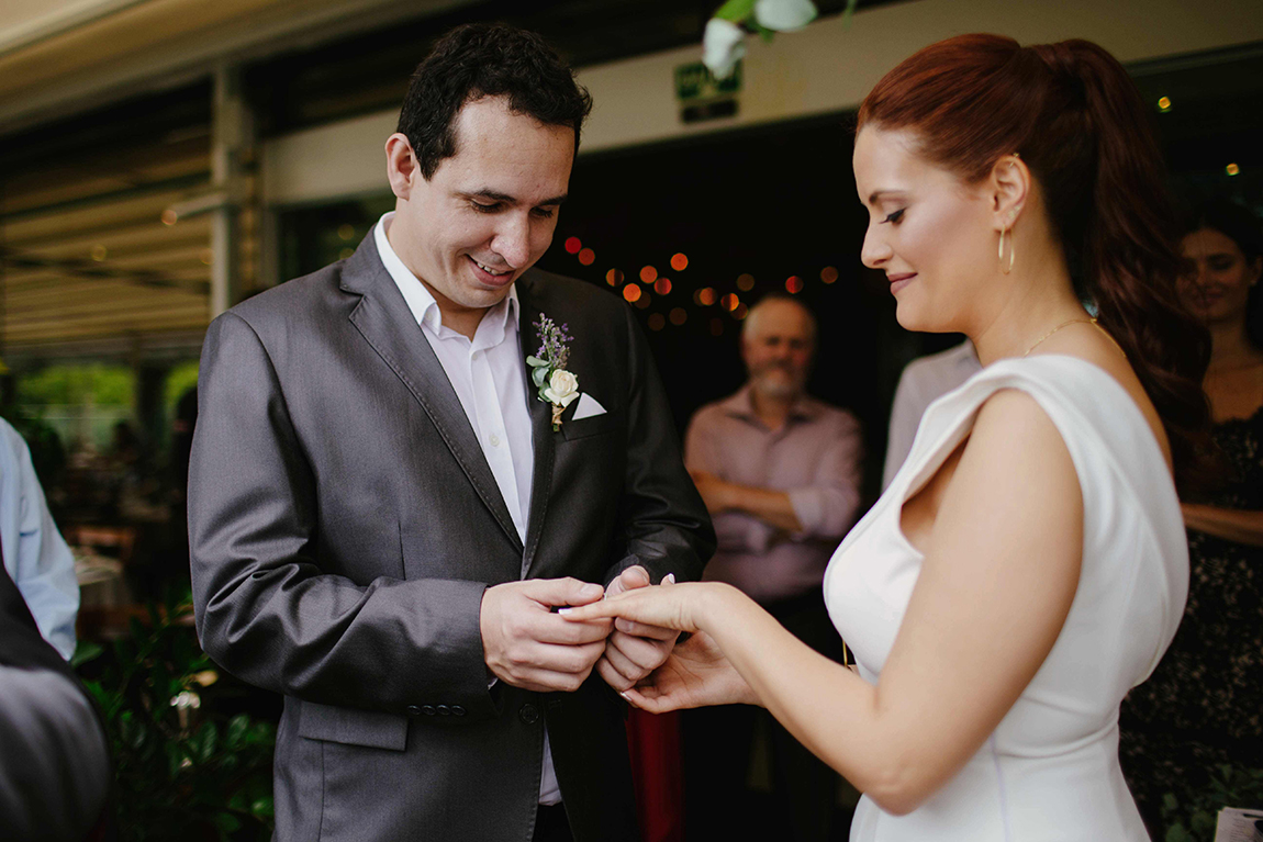
[[[486,457],[482,456],[461,400],[434,350],[412,317],[403,294],[383,265],[373,237],[370,231],[342,271],[342,288],[361,295],[350,321],[429,415],[470,485],[509,540],[522,552],[518,529],[513,525],[509,507],[500,495]]]

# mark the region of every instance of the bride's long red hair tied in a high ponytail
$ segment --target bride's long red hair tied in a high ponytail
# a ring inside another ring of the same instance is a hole
[[[967,181],[1014,151],[1043,189],[1080,294],[1162,417],[1177,481],[1199,476],[1210,423],[1210,336],[1177,294],[1180,228],[1139,92],[1086,40],[1023,48],[1000,35],[932,44],[878,82],[859,125],[911,127]]]

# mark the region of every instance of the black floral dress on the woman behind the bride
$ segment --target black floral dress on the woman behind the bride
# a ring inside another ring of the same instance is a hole
[[[1263,408],[1212,434],[1231,480],[1206,502],[1263,510]],[[1188,559],[1180,630],[1120,715],[1123,771],[1151,831],[1166,793],[1187,803],[1221,764],[1263,768],[1263,548],[1190,530]]]

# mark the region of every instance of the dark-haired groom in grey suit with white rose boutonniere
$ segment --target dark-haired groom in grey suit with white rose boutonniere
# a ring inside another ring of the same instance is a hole
[[[197,624],[285,696],[278,839],[638,838],[610,685],[674,636],[554,608],[696,578],[714,534],[630,311],[532,269],[589,109],[537,35],[453,30],[386,143],[395,211],[207,332]]]

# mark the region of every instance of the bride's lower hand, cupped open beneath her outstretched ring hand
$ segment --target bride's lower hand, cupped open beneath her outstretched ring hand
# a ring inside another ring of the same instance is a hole
[[[705,631],[677,645],[667,661],[624,691],[623,697],[650,713],[707,704],[758,704],[745,679]]]

